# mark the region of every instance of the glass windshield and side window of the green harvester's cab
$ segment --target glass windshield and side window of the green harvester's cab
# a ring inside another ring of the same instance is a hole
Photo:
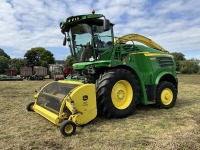
[[[70,48],[75,62],[94,61],[102,51],[113,46],[112,28],[78,24],[70,29]]]

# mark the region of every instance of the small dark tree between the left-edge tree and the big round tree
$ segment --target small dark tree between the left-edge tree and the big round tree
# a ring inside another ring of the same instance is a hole
[[[20,58],[13,58],[10,60],[11,68],[17,70],[17,74],[20,73],[20,68],[25,65],[25,60]]]

